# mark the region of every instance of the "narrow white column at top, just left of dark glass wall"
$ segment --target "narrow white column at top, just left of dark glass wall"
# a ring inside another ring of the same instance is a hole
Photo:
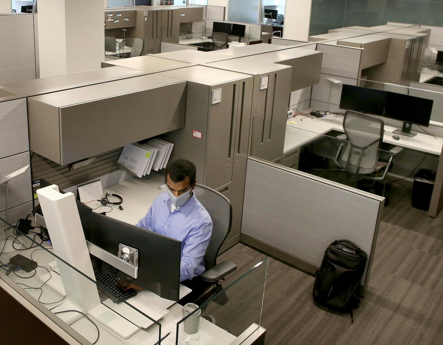
[[[311,23],[312,0],[286,0],[283,37],[307,41]]]

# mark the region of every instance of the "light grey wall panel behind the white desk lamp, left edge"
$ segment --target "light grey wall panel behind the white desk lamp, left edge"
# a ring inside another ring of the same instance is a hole
[[[29,165],[29,151],[0,159],[0,176],[6,176]],[[0,211],[6,210],[6,188],[0,184]],[[8,207],[32,200],[31,169],[8,182]]]

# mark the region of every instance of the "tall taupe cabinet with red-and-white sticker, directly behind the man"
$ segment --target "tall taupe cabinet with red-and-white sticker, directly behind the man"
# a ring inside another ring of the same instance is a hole
[[[175,144],[170,159],[193,161],[197,181],[230,200],[233,222],[225,250],[240,238],[253,77],[206,66],[159,74],[187,80],[185,126],[166,137]]]

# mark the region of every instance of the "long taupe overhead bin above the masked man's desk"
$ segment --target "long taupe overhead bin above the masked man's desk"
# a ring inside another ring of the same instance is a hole
[[[184,126],[186,81],[146,75],[28,98],[32,152],[65,165]]]

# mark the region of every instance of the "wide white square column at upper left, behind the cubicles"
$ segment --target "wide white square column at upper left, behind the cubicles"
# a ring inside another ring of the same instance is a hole
[[[103,0],[39,0],[40,78],[101,67],[104,13]]]

